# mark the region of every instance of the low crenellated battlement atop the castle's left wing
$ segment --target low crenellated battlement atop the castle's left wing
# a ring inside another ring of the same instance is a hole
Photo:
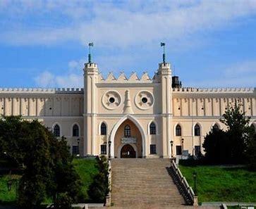
[[[0,88],[1,93],[36,93],[36,94],[83,94],[83,88]]]

